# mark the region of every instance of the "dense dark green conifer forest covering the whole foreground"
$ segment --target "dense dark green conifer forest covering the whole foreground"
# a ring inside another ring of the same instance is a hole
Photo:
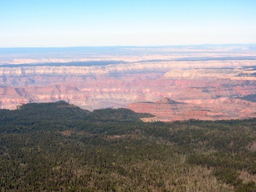
[[[0,110],[0,191],[256,191],[256,118],[149,117],[63,101]]]

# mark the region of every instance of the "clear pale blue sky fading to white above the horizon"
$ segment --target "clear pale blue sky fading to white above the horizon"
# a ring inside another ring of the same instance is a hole
[[[0,47],[254,43],[255,0],[0,0]]]

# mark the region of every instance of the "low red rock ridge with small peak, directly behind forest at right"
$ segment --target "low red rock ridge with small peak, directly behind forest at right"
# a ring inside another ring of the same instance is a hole
[[[154,114],[160,121],[189,119],[219,120],[256,117],[256,103],[240,99],[218,98],[197,102],[138,102],[128,109],[137,113]]]

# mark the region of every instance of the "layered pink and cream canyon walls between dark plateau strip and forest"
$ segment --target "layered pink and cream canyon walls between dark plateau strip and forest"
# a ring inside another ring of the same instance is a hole
[[[248,67],[230,68],[234,65]],[[251,66],[251,61],[211,61],[0,67],[0,107],[65,100],[87,110],[132,103],[129,109],[164,121],[254,117],[254,102],[237,99],[256,94]]]

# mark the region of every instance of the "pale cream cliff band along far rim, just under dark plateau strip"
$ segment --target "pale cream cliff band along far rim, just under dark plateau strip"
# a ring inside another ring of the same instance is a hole
[[[202,62],[129,62],[126,64],[109,64],[105,66],[61,66],[61,63],[58,63],[58,66],[18,66],[18,65],[9,65],[2,67],[0,65],[0,77],[24,77],[24,76],[38,76],[38,75],[114,75],[114,74],[134,74],[134,73],[149,73],[149,72],[158,72],[166,73],[169,70],[169,73],[165,75],[165,78],[173,74],[180,74],[181,70],[174,69],[196,69],[196,68],[219,68],[219,67],[238,67],[238,66],[254,66],[252,61],[202,61]],[[57,65],[57,64],[56,64]],[[11,66],[11,67],[10,67]],[[209,70],[209,69],[208,69]],[[211,73],[214,69],[209,71],[208,78],[210,75],[215,75]],[[204,73],[201,70],[202,73]],[[218,70],[218,75],[222,74],[235,74],[237,70]],[[188,74],[182,71],[184,77],[194,76],[194,74],[200,73],[199,70],[193,70]],[[2,82],[0,82],[2,85]]]

